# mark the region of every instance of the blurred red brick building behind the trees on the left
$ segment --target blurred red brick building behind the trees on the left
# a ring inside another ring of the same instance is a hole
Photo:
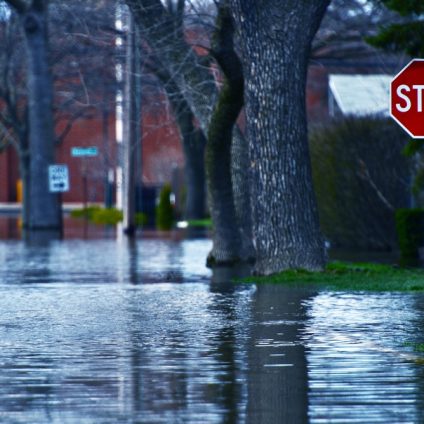
[[[62,125],[65,125],[63,123]],[[60,127],[58,130],[60,131]],[[84,179],[87,200],[104,202],[110,184],[116,180],[117,144],[115,115],[101,114],[74,123],[57,147],[56,162],[69,168],[70,190],[63,194],[64,202],[82,202]],[[170,182],[175,168],[184,164],[179,132],[169,110],[157,107],[143,113],[142,181],[146,187],[158,187]],[[73,147],[97,147],[95,157],[73,157]],[[0,202],[19,200],[19,162],[13,147],[0,153]],[[108,187],[109,182],[109,187]]]

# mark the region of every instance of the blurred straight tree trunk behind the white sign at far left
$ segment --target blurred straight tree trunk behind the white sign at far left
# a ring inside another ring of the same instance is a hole
[[[62,230],[59,196],[49,192],[48,167],[54,164],[52,78],[48,62],[47,6],[34,2],[21,12],[28,56],[29,230]]]

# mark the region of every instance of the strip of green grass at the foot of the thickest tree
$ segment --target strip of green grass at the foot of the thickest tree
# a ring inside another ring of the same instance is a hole
[[[424,291],[424,269],[366,262],[331,262],[322,272],[289,270],[268,277],[248,277],[243,281],[313,286],[323,290],[416,292]]]

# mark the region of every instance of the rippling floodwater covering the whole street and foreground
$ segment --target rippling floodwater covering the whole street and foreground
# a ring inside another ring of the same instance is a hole
[[[424,423],[424,295],[215,281],[208,239],[0,240],[0,422]]]

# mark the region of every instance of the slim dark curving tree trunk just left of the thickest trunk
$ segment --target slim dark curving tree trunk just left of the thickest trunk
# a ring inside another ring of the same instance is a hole
[[[242,237],[233,190],[233,129],[243,107],[243,71],[234,51],[234,26],[229,9],[221,3],[212,40],[212,52],[224,74],[213,111],[206,145],[209,206],[214,223],[213,248],[208,265],[234,264],[243,257]]]

